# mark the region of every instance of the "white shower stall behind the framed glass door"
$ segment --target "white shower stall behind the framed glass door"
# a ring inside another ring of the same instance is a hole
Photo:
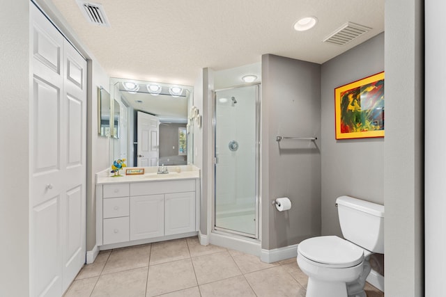
[[[259,238],[259,84],[215,91],[213,230]]]

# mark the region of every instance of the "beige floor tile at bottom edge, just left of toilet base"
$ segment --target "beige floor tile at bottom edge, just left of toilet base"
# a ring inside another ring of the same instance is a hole
[[[293,296],[305,297],[305,289],[286,272],[283,266],[245,274],[245,278],[256,296]]]

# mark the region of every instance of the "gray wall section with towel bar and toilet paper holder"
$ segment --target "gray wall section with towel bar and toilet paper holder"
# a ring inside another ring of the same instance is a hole
[[[321,65],[262,56],[262,248],[299,243],[321,232],[321,141],[276,136],[321,135]],[[270,201],[289,197],[279,212]]]

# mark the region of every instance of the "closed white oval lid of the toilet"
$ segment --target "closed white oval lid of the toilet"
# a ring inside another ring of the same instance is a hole
[[[352,267],[364,259],[364,250],[338,236],[305,239],[298,245],[298,254],[321,264],[338,268]]]

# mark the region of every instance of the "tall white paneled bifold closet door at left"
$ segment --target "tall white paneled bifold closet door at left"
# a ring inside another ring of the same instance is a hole
[[[30,295],[61,296],[86,255],[86,61],[30,9]]]

